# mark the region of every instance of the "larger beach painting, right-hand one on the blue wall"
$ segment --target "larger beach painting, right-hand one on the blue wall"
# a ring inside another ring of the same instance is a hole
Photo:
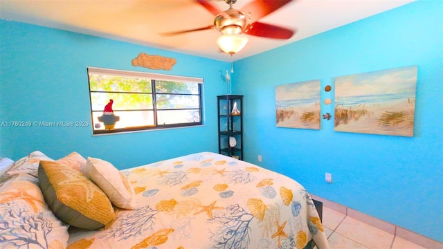
[[[334,131],[414,136],[417,66],[335,78]]]

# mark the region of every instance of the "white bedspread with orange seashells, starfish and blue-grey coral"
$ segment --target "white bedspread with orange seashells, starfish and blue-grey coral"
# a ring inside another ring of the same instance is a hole
[[[327,248],[308,192],[287,176],[210,152],[122,171],[135,210],[106,230],[70,228],[68,248]]]

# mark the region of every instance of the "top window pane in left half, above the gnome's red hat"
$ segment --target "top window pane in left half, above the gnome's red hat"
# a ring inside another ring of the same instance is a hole
[[[152,92],[151,80],[93,74],[89,74],[89,88],[91,91]]]

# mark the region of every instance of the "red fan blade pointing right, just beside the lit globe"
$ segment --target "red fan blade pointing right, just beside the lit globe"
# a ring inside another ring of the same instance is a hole
[[[258,21],[249,24],[244,28],[243,33],[248,35],[255,35],[258,37],[267,37],[275,39],[289,39],[294,34],[292,30],[273,26],[271,24],[263,24]]]

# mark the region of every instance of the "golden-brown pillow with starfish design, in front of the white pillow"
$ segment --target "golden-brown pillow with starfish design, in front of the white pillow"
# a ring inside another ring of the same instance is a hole
[[[111,201],[82,172],[60,162],[42,160],[38,173],[46,203],[64,223],[96,230],[113,221]]]

